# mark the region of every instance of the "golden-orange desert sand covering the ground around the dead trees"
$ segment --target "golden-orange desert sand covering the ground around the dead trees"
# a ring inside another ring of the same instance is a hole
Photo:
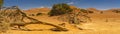
[[[44,11],[44,10],[43,10]],[[98,13],[92,13],[88,16],[91,17],[91,22],[81,23],[79,26],[83,30],[79,30],[69,24],[68,22],[63,22],[58,19],[56,19],[56,16],[49,17],[45,12],[45,14],[41,16],[29,16],[32,18],[35,18],[39,21],[48,22],[51,24],[61,24],[66,23],[65,28],[67,28],[69,31],[51,31],[48,29],[53,28],[49,25],[42,25],[42,24],[30,24],[26,27],[29,29],[41,29],[41,31],[21,31],[21,30],[8,30],[7,33],[1,33],[1,34],[120,34],[120,14],[114,13],[109,10],[104,11],[102,14],[100,12]],[[26,14],[31,14],[34,12],[25,12]],[[37,13],[37,12],[36,12]],[[26,20],[27,21],[27,20]]]

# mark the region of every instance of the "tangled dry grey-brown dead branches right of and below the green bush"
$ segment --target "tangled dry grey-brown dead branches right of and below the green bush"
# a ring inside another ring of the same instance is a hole
[[[75,8],[73,9],[72,12],[61,15],[58,18],[61,19],[62,21],[69,22],[69,24],[72,24],[74,27],[82,30],[82,28],[80,28],[80,26],[78,25],[82,22],[91,21],[90,17],[87,15],[88,15],[88,11],[85,13],[80,11],[80,9]]]

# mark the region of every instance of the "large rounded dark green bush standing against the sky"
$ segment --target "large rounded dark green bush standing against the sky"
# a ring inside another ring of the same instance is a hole
[[[65,3],[54,4],[52,10],[48,13],[50,16],[57,16],[71,12],[72,9]]]

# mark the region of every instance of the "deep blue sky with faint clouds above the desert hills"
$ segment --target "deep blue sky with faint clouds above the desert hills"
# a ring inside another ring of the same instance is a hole
[[[52,7],[53,4],[57,3],[67,3],[79,8],[120,8],[120,0],[5,0],[4,6],[19,6],[21,9],[30,9]]]

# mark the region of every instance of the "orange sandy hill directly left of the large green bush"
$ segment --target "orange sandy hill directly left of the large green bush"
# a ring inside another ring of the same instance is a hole
[[[27,14],[36,14],[36,13],[48,13],[50,11],[50,8],[43,7],[43,8],[32,8],[28,10],[24,10]]]

